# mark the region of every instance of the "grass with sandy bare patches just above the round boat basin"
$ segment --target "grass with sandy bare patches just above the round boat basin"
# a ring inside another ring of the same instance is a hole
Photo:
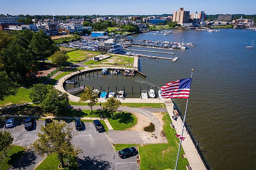
[[[129,59],[130,58],[130,59]],[[130,60],[130,64],[133,63],[134,58],[133,57],[126,57],[126,56],[111,56],[107,59],[103,59],[101,61],[87,61],[84,63],[84,65],[98,65],[98,64],[109,64],[109,65],[114,65],[117,63],[118,65],[124,65],[128,64]]]

